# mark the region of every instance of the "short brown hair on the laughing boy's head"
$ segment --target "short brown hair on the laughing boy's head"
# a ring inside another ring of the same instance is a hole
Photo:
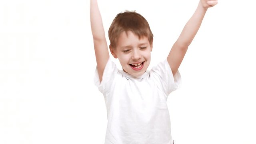
[[[108,38],[110,47],[116,48],[117,40],[122,32],[132,31],[139,38],[148,37],[150,45],[153,42],[153,34],[150,30],[148,21],[135,11],[126,11],[116,15],[109,30]]]

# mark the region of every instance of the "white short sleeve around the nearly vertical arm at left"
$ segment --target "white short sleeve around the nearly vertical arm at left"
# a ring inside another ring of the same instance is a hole
[[[116,64],[108,59],[108,62],[104,68],[103,75],[102,75],[102,81],[100,82],[98,70],[96,68],[95,75],[94,75],[94,84],[98,87],[99,91],[104,94],[110,90],[112,86],[112,82],[118,73],[118,68],[116,67]]]

